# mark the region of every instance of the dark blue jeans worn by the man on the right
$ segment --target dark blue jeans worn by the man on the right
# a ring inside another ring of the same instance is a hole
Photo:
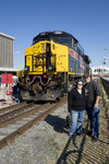
[[[88,107],[87,115],[90,121],[90,132],[94,134],[95,138],[99,138],[99,110],[100,104],[98,104],[98,108]]]

